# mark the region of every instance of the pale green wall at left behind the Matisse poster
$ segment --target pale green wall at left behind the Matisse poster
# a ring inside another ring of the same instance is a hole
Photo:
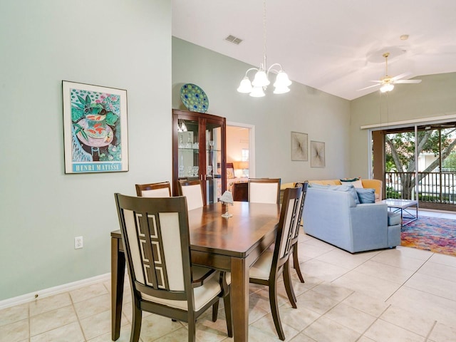
[[[110,272],[114,192],[171,180],[171,8],[1,1],[0,300]],[[64,174],[62,80],[127,90],[129,172]]]

